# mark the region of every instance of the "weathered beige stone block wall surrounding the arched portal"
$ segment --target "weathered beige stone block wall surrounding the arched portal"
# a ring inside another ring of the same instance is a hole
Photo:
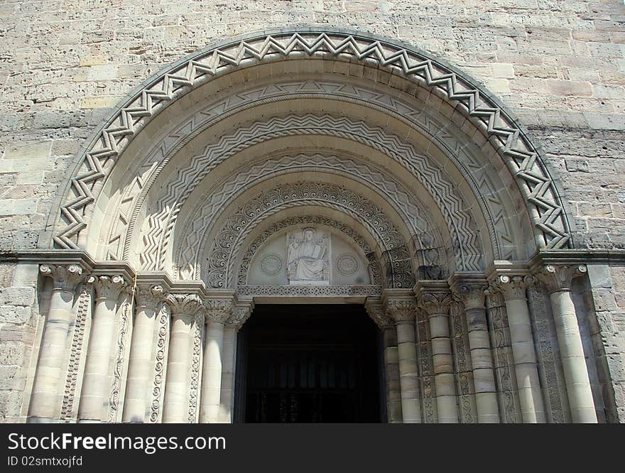
[[[2,251],[48,244],[75,153],[133,87],[216,40],[298,25],[404,40],[482,82],[540,146],[575,246],[625,249],[620,0],[7,0],[0,17]],[[0,271],[0,420],[17,420],[36,291]],[[625,276],[604,271],[592,295],[623,419]]]

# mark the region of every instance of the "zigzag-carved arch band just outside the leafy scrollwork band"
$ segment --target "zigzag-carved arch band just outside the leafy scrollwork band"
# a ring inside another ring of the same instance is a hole
[[[445,255],[440,255],[445,246],[444,240],[438,235],[439,229],[429,222],[428,212],[420,207],[420,202],[411,195],[410,190],[393,180],[392,176],[385,175],[384,169],[376,167],[374,163],[355,161],[355,158],[342,158],[332,154],[328,156],[320,153],[310,155],[300,153],[297,156],[287,154],[275,158],[260,156],[249,167],[237,168],[237,173],[228,175],[227,179],[211,187],[207,192],[210,199],[200,201],[197,208],[189,212],[186,221],[180,224],[180,238],[178,244],[175,245],[173,258],[177,276],[181,279],[200,277],[198,266],[199,255],[202,251],[200,240],[207,234],[208,228],[217,215],[224,212],[231,200],[265,180],[307,170],[315,171],[315,173],[342,175],[361,182],[388,202],[392,202],[403,224],[412,232],[410,249],[416,251],[418,265],[442,266],[445,263]],[[422,241],[425,237],[429,237],[430,240]],[[436,250],[435,253],[440,256],[434,257],[433,250]]]

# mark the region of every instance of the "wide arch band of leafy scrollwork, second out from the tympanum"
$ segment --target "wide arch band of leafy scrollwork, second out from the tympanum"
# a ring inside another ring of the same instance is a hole
[[[226,223],[214,232],[211,239],[205,235],[200,248],[205,249],[201,279],[207,287],[224,289],[228,275],[233,271],[244,238],[263,219],[290,207],[317,206],[348,214],[360,222],[381,247],[386,261],[386,286],[411,288],[414,285],[414,268],[411,252],[401,232],[391,219],[369,199],[335,184],[298,182],[279,185],[265,190],[247,200],[236,212],[229,214]],[[207,244],[214,241],[212,244]]]

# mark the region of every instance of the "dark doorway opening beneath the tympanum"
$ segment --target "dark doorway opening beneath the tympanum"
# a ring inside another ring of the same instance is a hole
[[[360,305],[257,305],[239,332],[239,420],[379,422],[381,366]]]

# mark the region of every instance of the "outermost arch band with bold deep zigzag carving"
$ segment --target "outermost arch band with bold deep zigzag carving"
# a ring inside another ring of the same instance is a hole
[[[451,102],[486,131],[516,177],[536,227],[538,247],[570,246],[565,212],[547,168],[526,134],[496,99],[455,68],[411,46],[369,34],[325,28],[233,38],[165,67],[135,89],[79,156],[65,195],[61,196],[53,245],[77,249],[77,235],[87,227],[85,210],[99,195],[117,157],[138,131],[173,100],[235,68],[301,55],[340,56],[386,67]]]

